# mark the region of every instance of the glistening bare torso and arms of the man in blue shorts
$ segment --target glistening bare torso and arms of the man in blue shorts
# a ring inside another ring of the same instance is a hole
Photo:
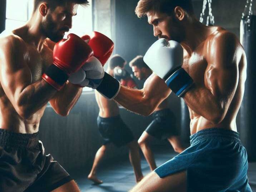
[[[246,80],[245,52],[234,34],[220,27],[205,28],[206,38],[194,49],[181,43],[182,68],[195,82],[183,97],[189,108],[190,131],[194,134],[211,127],[236,131]],[[121,87],[114,100],[133,112],[149,115],[170,93],[164,81],[152,74],[142,90]]]

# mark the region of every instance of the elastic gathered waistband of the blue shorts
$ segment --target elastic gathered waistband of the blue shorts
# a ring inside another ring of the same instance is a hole
[[[223,128],[208,128],[198,131],[197,133],[190,136],[190,144],[193,144],[197,141],[208,139],[208,138],[225,138],[230,140],[237,140],[240,142],[239,133]]]

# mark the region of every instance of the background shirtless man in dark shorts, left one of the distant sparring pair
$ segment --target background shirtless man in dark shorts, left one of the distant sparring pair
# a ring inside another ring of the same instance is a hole
[[[117,66],[124,65],[125,60],[119,55],[113,55],[109,60],[107,69],[108,74],[114,76],[114,69]],[[97,178],[97,168],[102,162],[106,153],[113,149],[113,146],[120,147],[126,145],[129,148],[129,159],[133,166],[136,182],[143,178],[141,172],[141,158],[139,154],[138,143],[134,140],[132,131],[127,127],[119,115],[117,103],[113,100],[104,98],[100,93],[95,91],[96,101],[99,106],[99,116],[97,118],[99,132],[104,140],[103,145],[98,149],[92,170],[88,179],[95,184],[101,184],[102,181]]]

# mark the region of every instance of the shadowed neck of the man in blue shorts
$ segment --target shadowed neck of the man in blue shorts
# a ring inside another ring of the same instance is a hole
[[[196,18],[191,18],[191,21],[184,27],[185,38],[181,41],[181,45],[188,53],[193,52],[200,45],[208,35],[213,33],[213,28],[203,25]]]

